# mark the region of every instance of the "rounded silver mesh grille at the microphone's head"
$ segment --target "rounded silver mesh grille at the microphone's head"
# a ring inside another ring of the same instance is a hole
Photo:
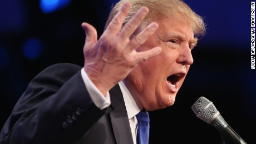
[[[207,123],[210,123],[214,115],[218,113],[213,103],[205,97],[200,97],[191,108],[198,118]]]

